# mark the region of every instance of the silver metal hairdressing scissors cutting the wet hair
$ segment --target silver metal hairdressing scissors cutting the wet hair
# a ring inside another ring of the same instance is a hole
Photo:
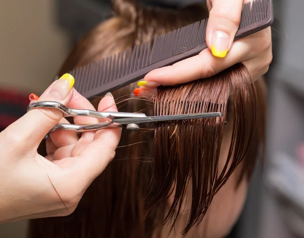
[[[74,124],[57,124],[50,132],[53,131],[73,131],[86,132],[97,131],[100,129],[124,128],[129,131],[139,131],[140,125],[147,126],[149,123],[189,120],[198,118],[218,117],[222,116],[221,112],[193,113],[193,114],[177,114],[177,115],[162,115],[162,116],[147,116],[144,113],[131,112],[108,112],[108,111],[93,111],[89,109],[73,109],[61,103],[53,101],[41,101],[31,103],[27,111],[35,108],[54,108],[63,112],[64,117],[68,116],[89,116],[105,119],[104,122],[91,125],[74,125]],[[48,138],[46,135],[45,139]]]

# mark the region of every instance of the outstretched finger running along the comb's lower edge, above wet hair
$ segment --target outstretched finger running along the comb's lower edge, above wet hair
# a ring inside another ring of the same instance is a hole
[[[153,88],[154,85],[168,86],[191,82],[213,76],[238,62],[259,58],[265,51],[272,55],[270,27],[236,41],[224,59],[214,57],[205,49],[197,56],[150,71],[138,85]],[[261,63],[265,66],[267,64],[262,61]]]

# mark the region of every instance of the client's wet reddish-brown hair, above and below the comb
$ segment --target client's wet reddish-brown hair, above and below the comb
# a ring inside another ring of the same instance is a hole
[[[170,10],[116,0],[113,6],[117,16],[81,39],[60,75],[208,17],[206,6],[199,4]],[[112,94],[119,100],[131,97],[135,87],[130,84]],[[165,223],[174,227],[191,191],[186,234],[203,220],[213,196],[241,162],[239,182],[244,175],[250,178],[264,143],[265,89],[262,80],[253,82],[241,63],[207,79],[159,87],[153,101],[121,101],[118,108],[126,112],[220,111],[223,116],[157,123],[154,132],[123,131],[114,160],[87,189],[77,209],[67,217],[32,220],[30,238],[150,238]],[[220,164],[226,127],[232,130],[231,142],[227,160]],[[166,209],[171,194],[173,202]]]

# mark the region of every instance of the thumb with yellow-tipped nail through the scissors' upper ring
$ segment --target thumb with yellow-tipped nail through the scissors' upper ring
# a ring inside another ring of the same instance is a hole
[[[73,85],[73,76],[66,73],[55,81],[37,101],[56,101],[67,105],[72,99],[73,91],[71,89]],[[11,131],[8,133],[18,133],[26,146],[36,147],[62,117],[63,113],[59,110],[35,108],[12,124]]]

